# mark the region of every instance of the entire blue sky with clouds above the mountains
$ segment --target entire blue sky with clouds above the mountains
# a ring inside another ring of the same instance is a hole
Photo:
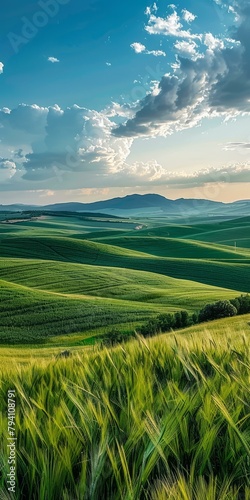
[[[3,0],[0,203],[250,198],[249,0]]]

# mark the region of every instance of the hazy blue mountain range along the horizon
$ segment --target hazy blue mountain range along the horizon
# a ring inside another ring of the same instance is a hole
[[[96,201],[94,203],[56,203],[54,205],[0,205],[0,211],[23,212],[46,210],[63,212],[105,212],[113,215],[250,215],[250,200],[222,203],[205,199],[170,200],[159,194],[132,194],[123,198]]]

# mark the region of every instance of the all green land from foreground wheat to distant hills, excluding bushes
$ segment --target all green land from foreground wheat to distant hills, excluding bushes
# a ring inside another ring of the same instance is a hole
[[[249,500],[250,315],[137,332],[249,292],[250,219],[25,217],[0,222],[0,499],[13,389],[16,500]]]

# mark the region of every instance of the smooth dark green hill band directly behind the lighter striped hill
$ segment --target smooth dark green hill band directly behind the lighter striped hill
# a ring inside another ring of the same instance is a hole
[[[247,258],[217,261],[208,258],[158,257],[99,242],[51,236],[5,238],[1,242],[1,256],[137,269],[242,292],[249,291],[250,259]]]

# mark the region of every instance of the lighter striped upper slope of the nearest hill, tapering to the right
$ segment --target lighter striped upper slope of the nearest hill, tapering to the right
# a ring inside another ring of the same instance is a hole
[[[169,276],[85,264],[0,259],[0,276],[11,283],[64,295],[90,295],[145,303],[179,305],[190,310],[206,301],[235,297],[236,291]],[[192,290],[191,294],[188,292]]]

